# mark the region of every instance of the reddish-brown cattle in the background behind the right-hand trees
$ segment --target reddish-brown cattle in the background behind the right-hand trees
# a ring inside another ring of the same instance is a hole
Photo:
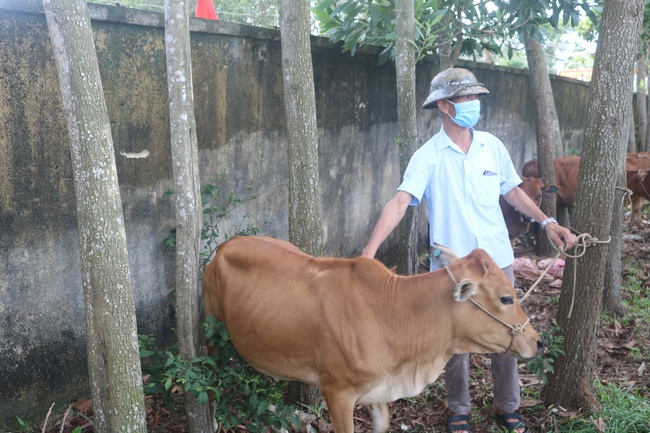
[[[578,189],[578,172],[580,168],[579,156],[564,156],[555,158],[555,183],[545,184],[539,179],[537,160],[526,162],[522,169],[523,183],[521,189],[539,205],[542,192],[556,194],[558,207],[573,207],[575,204],[576,191]],[[650,200],[650,153],[628,153],[625,159],[625,170],[627,178],[627,189],[630,192],[632,201],[632,213],[630,225],[641,223],[641,208],[645,200]],[[505,200],[501,200],[501,210],[508,226],[508,235],[511,240],[528,231],[529,223],[525,217],[516,209],[510,206]]]

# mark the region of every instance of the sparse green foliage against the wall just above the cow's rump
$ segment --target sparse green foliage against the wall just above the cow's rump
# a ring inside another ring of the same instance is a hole
[[[203,275],[206,265],[212,259],[214,252],[222,242],[233,236],[250,236],[260,232],[257,225],[253,223],[252,215],[245,213],[238,222],[232,222],[234,212],[243,204],[257,198],[256,194],[250,193],[251,187],[246,185],[244,189],[248,192],[244,197],[238,197],[234,192],[225,192],[219,186],[221,176],[217,175],[208,183],[201,186],[201,204],[203,206],[203,226],[201,228],[201,259],[199,264],[199,275]],[[165,194],[174,194],[172,189],[165,191]],[[270,222],[266,222],[270,224]],[[169,236],[165,239],[167,248],[174,249],[176,246],[176,230],[170,230]]]

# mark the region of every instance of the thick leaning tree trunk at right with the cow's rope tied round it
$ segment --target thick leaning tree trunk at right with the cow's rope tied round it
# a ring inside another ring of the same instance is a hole
[[[574,213],[575,227],[599,240],[606,240],[610,234],[642,19],[643,0],[605,3]],[[557,313],[565,354],[557,359],[555,372],[542,390],[547,404],[585,409],[597,406],[593,380],[606,254],[607,244],[593,244],[577,263],[567,262]]]

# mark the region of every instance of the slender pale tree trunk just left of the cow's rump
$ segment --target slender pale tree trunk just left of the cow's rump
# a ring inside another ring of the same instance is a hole
[[[165,53],[169,123],[176,200],[176,334],[179,355],[203,354],[199,266],[203,208],[190,53],[189,3],[165,0]],[[214,431],[209,406],[184,393],[190,433]]]

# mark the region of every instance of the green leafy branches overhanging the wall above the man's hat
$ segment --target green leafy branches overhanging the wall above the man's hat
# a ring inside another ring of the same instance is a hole
[[[580,10],[597,21],[597,5],[591,0],[416,0],[414,44],[418,60],[429,54],[475,58],[483,51],[501,54],[507,47],[514,55],[520,31],[543,40],[540,28],[560,23],[577,26]],[[342,42],[344,52],[355,54],[358,45],[384,47],[380,63],[394,58],[395,0],[321,0],[312,9],[321,34]]]

